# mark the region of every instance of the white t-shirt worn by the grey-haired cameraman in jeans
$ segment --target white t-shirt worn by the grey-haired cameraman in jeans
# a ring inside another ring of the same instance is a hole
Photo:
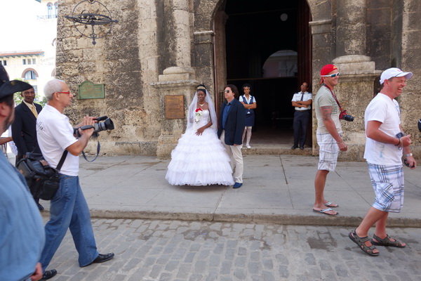
[[[46,105],[36,119],[36,138],[42,155],[53,168],[60,162],[65,149],[77,141],[69,118],[51,105]],[[78,176],[79,156],[67,153],[60,174]]]

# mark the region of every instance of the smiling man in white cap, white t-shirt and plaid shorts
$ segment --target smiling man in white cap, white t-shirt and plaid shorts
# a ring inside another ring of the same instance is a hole
[[[378,256],[373,246],[400,247],[405,243],[389,237],[386,222],[389,212],[399,213],[403,207],[403,166],[415,169],[417,162],[410,152],[410,135],[402,133],[401,112],[395,98],[401,96],[406,79],[412,72],[403,72],[392,67],[380,76],[382,89],[366,108],[366,150],[368,173],[375,192],[375,201],[359,227],[349,233],[349,238],[370,256]],[[368,238],[368,230],[375,224],[373,239]]]

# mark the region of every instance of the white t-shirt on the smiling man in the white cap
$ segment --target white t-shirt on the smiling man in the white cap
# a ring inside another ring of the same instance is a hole
[[[377,96],[371,100],[364,114],[364,122],[378,121],[382,122],[379,129],[389,136],[396,136],[401,131],[401,111],[396,100],[392,100],[383,93],[377,93]],[[401,165],[402,150],[391,143],[380,143],[366,137],[366,151],[364,159],[371,164],[377,165]]]

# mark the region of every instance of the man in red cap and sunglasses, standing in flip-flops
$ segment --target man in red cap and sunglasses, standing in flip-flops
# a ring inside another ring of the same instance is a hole
[[[333,90],[338,85],[339,71],[335,65],[325,65],[320,71],[322,84],[314,98],[314,109],[317,117],[317,144],[319,150],[319,165],[314,179],[313,211],[335,216],[337,211],[331,207],[339,207],[338,204],[329,202],[324,197],[324,188],[329,171],[335,171],[338,152],[347,151],[348,147],[342,140],[342,126],[340,124],[340,106]]]

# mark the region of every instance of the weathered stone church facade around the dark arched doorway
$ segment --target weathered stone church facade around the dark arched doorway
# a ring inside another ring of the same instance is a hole
[[[343,123],[349,151],[340,157],[347,160],[362,160],[363,113],[379,90],[382,70],[400,67],[413,72],[399,103],[403,129],[413,136],[413,152],[421,157],[417,129],[421,118],[421,1],[101,0],[119,22],[105,37],[96,39],[95,45],[65,18],[72,15],[79,2],[60,3],[56,73],[74,93],[83,81],[105,84],[105,98],[76,98],[65,112],[74,122],[86,114],[113,119],[116,129],[100,133],[102,153],[169,157],[185,130],[187,107],[196,85],[206,84],[218,107],[227,82],[242,83],[237,78],[247,77],[256,86],[272,83],[273,79],[262,79],[260,70],[269,56],[263,53],[269,54],[269,48],[274,53],[278,48],[298,52],[298,72],[290,80],[293,82],[288,82],[293,90],[307,80],[316,93],[321,67],[327,63],[338,66],[341,75],[336,93],[343,107],[355,117],[354,122]],[[288,14],[294,19],[293,27],[285,25],[277,31],[283,23],[272,22],[262,28],[263,21],[253,18],[255,11],[266,13],[264,18],[272,13]],[[254,22],[260,30],[253,30],[253,25],[228,27],[241,17]],[[236,34],[243,35],[238,39]],[[259,37],[261,34],[265,34],[264,39]],[[278,46],[272,46],[276,40]],[[283,46],[288,40],[290,46]],[[236,57],[236,46],[245,41],[254,55],[244,51]],[[242,61],[245,67],[241,67]],[[242,68],[247,68],[248,73],[237,77]],[[276,85],[286,81],[279,79]],[[258,96],[259,106],[274,111],[263,92]],[[170,107],[178,108],[180,103],[182,109],[171,113]],[[290,98],[288,105],[281,106],[289,110]],[[173,118],[180,113],[184,118]],[[313,117],[313,155],[318,153],[316,126]],[[94,152],[96,144],[92,142],[88,149]]]

